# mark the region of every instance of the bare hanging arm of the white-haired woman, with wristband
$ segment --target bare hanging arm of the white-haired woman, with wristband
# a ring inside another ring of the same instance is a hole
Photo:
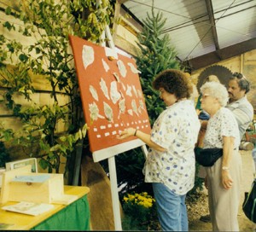
[[[234,153],[235,138],[231,136],[223,136],[223,160],[222,160],[222,184],[224,188],[230,189],[233,185],[233,179],[230,176],[230,161]]]

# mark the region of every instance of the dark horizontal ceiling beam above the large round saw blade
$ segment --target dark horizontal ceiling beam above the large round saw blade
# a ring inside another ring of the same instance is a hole
[[[189,60],[189,66],[192,67],[192,70],[197,70],[236,55],[241,55],[253,49],[256,49],[256,38],[251,38],[239,44],[234,44],[224,49],[218,49],[206,55],[195,57],[194,59]]]

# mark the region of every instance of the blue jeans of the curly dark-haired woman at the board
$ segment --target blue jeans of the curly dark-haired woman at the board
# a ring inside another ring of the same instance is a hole
[[[163,183],[152,183],[162,230],[189,231],[186,194],[178,195]]]

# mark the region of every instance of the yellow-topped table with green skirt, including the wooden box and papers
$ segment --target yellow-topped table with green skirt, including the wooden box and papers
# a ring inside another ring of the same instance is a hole
[[[3,172],[0,230],[90,230],[90,188],[64,186],[63,174],[26,165]]]

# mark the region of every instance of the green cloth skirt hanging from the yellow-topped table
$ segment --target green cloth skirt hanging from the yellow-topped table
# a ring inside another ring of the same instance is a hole
[[[87,195],[56,212],[32,230],[90,230],[90,208]]]

